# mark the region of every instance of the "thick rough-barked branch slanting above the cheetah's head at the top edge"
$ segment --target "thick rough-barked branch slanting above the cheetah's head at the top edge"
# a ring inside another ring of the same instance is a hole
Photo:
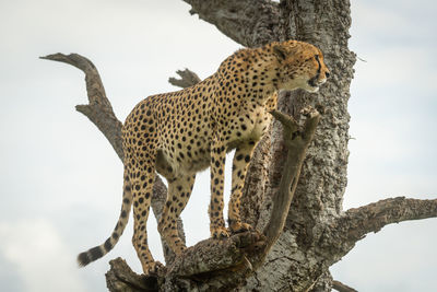
[[[281,39],[280,7],[269,0],[184,0],[201,20],[246,47]]]

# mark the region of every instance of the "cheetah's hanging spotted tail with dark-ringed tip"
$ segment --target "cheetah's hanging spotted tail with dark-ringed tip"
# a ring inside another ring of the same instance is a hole
[[[106,240],[106,242],[102,245],[95,246],[87,252],[83,252],[78,256],[78,264],[80,267],[84,267],[90,262],[99,259],[104,255],[106,255],[113,247],[117,244],[118,238],[121,236],[122,232],[125,231],[126,225],[128,224],[129,220],[129,212],[132,206],[132,191],[131,185],[129,182],[129,176],[125,168],[125,185],[123,185],[123,198],[122,198],[122,206],[120,217],[114,229],[113,234]]]

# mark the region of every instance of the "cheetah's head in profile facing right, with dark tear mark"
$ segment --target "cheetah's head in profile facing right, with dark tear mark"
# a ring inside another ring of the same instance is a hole
[[[287,40],[271,44],[275,56],[276,89],[317,92],[327,82],[329,69],[321,50],[308,43]]]

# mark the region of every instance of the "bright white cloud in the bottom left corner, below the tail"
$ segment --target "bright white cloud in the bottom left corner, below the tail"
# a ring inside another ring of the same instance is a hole
[[[74,256],[49,221],[0,222],[0,253],[16,268],[25,291],[85,291],[71,261]]]

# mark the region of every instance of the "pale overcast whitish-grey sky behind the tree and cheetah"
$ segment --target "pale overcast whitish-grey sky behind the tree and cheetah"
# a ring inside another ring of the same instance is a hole
[[[122,165],[74,110],[87,103],[83,73],[38,57],[90,58],[125,120],[145,96],[174,91],[167,80],[176,70],[205,78],[240,48],[188,11],[180,0],[0,0],[0,291],[106,291],[108,260],[118,256],[141,272],[131,222],[109,255],[76,267],[76,254],[103,243],[117,221]],[[437,197],[436,12],[427,0],[352,1],[350,48],[358,60],[345,210]],[[208,172],[182,213],[188,245],[209,236],[205,189]],[[156,222],[147,223],[162,260]],[[358,291],[435,291],[436,226],[437,219],[386,226],[332,275]]]

